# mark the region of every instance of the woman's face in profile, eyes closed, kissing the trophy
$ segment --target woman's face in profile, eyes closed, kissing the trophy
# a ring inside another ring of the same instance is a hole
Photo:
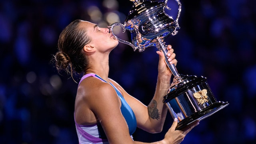
[[[108,28],[100,28],[97,24],[88,21],[82,21],[80,26],[86,28],[87,34],[91,38],[89,44],[94,45],[97,50],[112,50],[118,45],[118,40],[114,39]]]

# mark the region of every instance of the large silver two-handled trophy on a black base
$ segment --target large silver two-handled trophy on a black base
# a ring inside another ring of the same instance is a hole
[[[164,52],[166,65],[174,75],[173,82],[164,96],[163,102],[168,107],[172,118],[178,119],[176,130],[183,130],[198,120],[218,112],[228,106],[228,102],[217,101],[210,89],[207,80],[203,76],[191,76],[179,74],[174,64],[167,60],[167,46],[164,42],[168,36],[176,35],[179,24],[178,19],[181,12],[181,3],[178,4],[178,15],[176,20],[166,14],[164,10],[170,10],[167,1],[156,2],[150,0],[130,0],[134,4],[124,23],[114,23],[110,32],[115,38],[124,44],[128,44],[139,52],[146,48],[155,46]],[[121,26],[123,33],[128,30],[131,33],[131,41],[128,42],[118,38],[113,33],[115,26]]]

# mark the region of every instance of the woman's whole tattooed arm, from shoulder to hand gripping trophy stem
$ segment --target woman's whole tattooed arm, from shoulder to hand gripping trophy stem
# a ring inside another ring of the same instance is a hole
[[[174,59],[175,54],[170,45],[168,50],[167,55],[169,56],[170,61],[176,64],[177,61]],[[172,73],[166,66],[164,54],[159,51],[157,53],[159,54],[158,80],[154,97],[148,106],[145,106],[139,100],[130,96],[121,86],[113,81],[114,84],[116,84],[116,87],[123,92],[124,98],[134,111],[138,127],[150,133],[158,133],[162,131],[168,111],[162,101],[170,87],[170,79],[172,76]]]

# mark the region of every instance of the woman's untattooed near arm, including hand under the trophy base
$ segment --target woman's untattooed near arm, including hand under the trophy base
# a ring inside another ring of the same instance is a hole
[[[148,144],[146,142],[133,141],[129,134],[126,120],[120,110],[120,98],[110,84],[103,84],[94,88],[94,96],[89,99],[90,109],[97,116],[110,144]],[[93,91],[94,91],[93,90]],[[137,101],[138,102],[138,101]],[[146,106],[144,106],[146,107]],[[178,122],[174,121],[163,140],[150,144],[179,144],[191,130],[175,130]]]

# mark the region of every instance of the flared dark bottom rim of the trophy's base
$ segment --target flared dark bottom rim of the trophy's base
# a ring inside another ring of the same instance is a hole
[[[212,114],[218,112],[222,108],[228,106],[228,104],[228,102],[215,102],[214,104],[202,109],[201,111],[196,112],[187,118],[184,118],[182,121],[178,123],[176,130],[186,130],[190,128],[190,126],[193,125],[194,122],[203,120],[211,116]]]

